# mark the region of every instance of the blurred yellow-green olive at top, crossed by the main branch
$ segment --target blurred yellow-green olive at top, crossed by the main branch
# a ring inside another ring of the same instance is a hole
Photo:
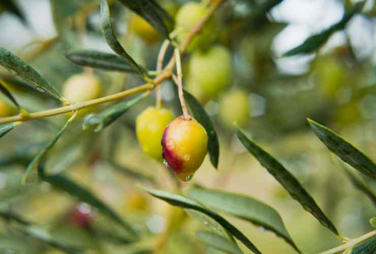
[[[177,12],[175,18],[175,28],[179,34],[179,42],[184,41],[190,33],[190,30],[199,23],[207,14],[207,9],[203,4],[189,2],[183,5]],[[207,48],[216,37],[216,21],[211,18],[202,28],[201,33],[192,40],[187,51]]]

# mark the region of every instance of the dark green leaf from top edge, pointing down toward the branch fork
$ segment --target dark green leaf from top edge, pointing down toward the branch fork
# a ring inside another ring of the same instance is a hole
[[[158,30],[163,37],[170,39],[170,31],[164,19],[167,19],[169,22],[173,22],[173,19],[154,0],[119,0],[119,2],[144,18],[151,26]]]

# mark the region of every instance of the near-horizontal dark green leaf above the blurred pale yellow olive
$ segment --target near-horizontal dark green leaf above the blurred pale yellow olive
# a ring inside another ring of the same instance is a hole
[[[109,54],[97,50],[74,50],[65,55],[77,65],[88,66],[108,71],[120,71],[138,73],[138,70],[129,65],[118,55]]]

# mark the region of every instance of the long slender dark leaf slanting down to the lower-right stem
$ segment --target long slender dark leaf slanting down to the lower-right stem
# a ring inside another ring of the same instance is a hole
[[[244,147],[252,153],[260,164],[265,167],[268,172],[288,191],[293,199],[298,201],[303,208],[314,215],[320,223],[330,229],[334,234],[339,236],[337,229],[328,219],[315,200],[306,192],[299,181],[275,158],[269,153],[261,149],[258,145],[248,139],[245,133],[236,126],[236,135]]]

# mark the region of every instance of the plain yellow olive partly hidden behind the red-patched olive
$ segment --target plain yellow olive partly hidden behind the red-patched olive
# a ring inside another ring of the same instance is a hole
[[[162,162],[161,139],[174,116],[168,109],[148,107],[136,119],[136,134],[144,153]]]

